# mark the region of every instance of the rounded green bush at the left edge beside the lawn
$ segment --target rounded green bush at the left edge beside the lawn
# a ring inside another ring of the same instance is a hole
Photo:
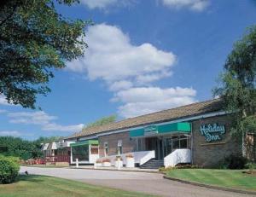
[[[13,183],[20,171],[19,159],[0,155],[0,183]]]

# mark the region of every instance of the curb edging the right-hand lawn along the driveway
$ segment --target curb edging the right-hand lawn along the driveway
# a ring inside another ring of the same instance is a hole
[[[248,190],[240,190],[240,189],[236,189],[236,188],[218,187],[218,186],[214,186],[214,185],[207,185],[207,184],[204,184],[204,183],[195,183],[195,182],[185,181],[185,180],[178,179],[178,178],[166,177],[166,176],[164,176],[164,178],[168,179],[168,180],[175,181],[175,182],[187,183],[187,184],[190,184],[190,185],[195,185],[195,186],[199,186],[199,187],[203,187],[203,188],[214,188],[214,189],[218,189],[218,190],[222,190],[222,191],[227,191],[227,192],[235,192],[235,193],[240,193],[240,194],[253,194],[253,195],[256,195],[256,192],[248,191]]]

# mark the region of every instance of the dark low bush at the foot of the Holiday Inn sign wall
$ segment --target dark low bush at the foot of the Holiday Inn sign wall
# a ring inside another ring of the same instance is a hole
[[[247,159],[241,155],[230,154],[224,159],[224,167],[228,169],[244,169],[247,164]]]

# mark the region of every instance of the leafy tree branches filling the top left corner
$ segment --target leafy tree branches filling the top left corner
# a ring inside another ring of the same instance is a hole
[[[22,107],[35,108],[46,96],[49,78],[84,53],[88,22],[68,20],[55,3],[78,0],[3,0],[0,3],[0,96]]]

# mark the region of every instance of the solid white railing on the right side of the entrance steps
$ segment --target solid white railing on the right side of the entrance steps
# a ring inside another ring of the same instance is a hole
[[[184,149],[176,149],[172,152],[172,154],[168,154],[164,158],[164,165],[165,167],[173,167],[177,164],[186,164],[191,163],[191,150],[184,148]]]

